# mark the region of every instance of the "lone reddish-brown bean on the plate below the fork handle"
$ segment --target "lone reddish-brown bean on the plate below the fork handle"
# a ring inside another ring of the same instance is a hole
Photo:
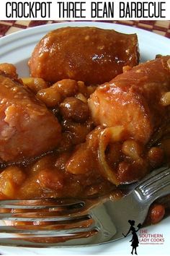
[[[149,218],[152,224],[156,224],[164,218],[165,208],[164,205],[153,204],[149,210]]]

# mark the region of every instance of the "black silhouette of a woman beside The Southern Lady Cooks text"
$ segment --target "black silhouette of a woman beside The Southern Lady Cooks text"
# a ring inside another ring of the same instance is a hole
[[[132,244],[131,244],[131,246],[133,247],[133,249],[132,249],[132,252],[131,252],[131,254],[133,255],[133,251],[134,251],[134,249],[135,249],[135,255],[137,255],[137,252],[136,252],[136,247],[138,247],[138,244],[139,244],[139,240],[138,240],[138,236],[137,236],[137,232],[138,232],[138,230],[140,229],[140,227],[141,227],[141,224],[139,223],[138,224],[138,229],[136,229],[135,230],[135,221],[128,221],[128,223],[130,223],[130,229],[129,229],[129,231],[128,231],[128,233],[125,235],[125,234],[123,234],[123,236],[128,236],[128,234],[130,233],[130,231],[132,232],[132,234],[133,234],[133,237],[132,237],[132,239],[130,240],[130,242],[132,242]]]

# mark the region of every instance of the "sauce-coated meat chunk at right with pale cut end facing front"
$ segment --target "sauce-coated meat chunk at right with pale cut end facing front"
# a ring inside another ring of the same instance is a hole
[[[148,142],[169,121],[161,97],[170,90],[170,56],[139,64],[100,85],[89,99],[92,119],[104,127],[122,125],[135,140]]]

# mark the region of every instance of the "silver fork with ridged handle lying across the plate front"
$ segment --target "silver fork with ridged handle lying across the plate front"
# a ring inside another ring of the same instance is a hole
[[[162,167],[120,200],[109,196],[95,200],[1,200],[0,244],[54,247],[112,242],[128,232],[129,219],[143,224],[151,203],[168,194],[170,168]]]

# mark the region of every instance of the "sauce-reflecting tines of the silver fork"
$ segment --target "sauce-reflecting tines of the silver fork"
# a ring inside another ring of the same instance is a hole
[[[97,234],[82,200],[1,200],[0,244],[24,242],[58,243]],[[26,239],[26,240],[25,240]],[[32,240],[33,239],[33,240]]]

